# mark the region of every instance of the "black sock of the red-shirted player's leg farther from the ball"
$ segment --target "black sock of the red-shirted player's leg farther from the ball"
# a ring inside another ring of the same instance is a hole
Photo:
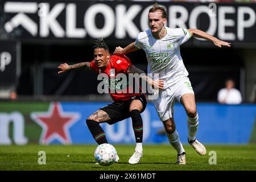
[[[133,130],[135,134],[136,143],[142,143],[143,137],[143,122],[141,118],[141,113],[139,110],[134,109],[130,111],[131,119],[133,121]]]

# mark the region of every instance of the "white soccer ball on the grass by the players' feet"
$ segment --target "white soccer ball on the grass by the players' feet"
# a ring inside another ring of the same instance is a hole
[[[101,164],[101,166],[109,166],[115,162],[115,158],[117,158],[117,150],[115,150],[115,147],[112,146],[112,144],[100,144],[94,152],[94,158],[97,163]]]

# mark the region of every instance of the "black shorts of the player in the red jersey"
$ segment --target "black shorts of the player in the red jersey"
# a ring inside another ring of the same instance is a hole
[[[109,125],[113,125],[118,121],[122,121],[123,119],[130,118],[131,115],[130,115],[129,107],[130,107],[131,101],[133,100],[140,100],[142,102],[142,106],[143,106],[141,111],[142,113],[146,109],[146,105],[147,105],[147,100],[144,95],[133,96],[131,97],[130,100],[127,100],[127,101],[115,101],[112,104],[101,107],[100,110],[103,110],[106,113],[108,113],[109,117],[111,118],[111,120],[108,121],[107,123],[109,123]]]

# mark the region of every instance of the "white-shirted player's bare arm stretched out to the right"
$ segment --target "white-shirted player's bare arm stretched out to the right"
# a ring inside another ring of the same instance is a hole
[[[221,46],[228,46],[231,47],[231,43],[224,42],[222,40],[217,39],[216,37],[207,34],[207,32],[198,30],[198,29],[188,29],[189,33],[192,36],[195,36],[196,38],[202,38],[202,39],[207,39],[210,40],[211,42],[214,43],[215,46],[221,47]]]

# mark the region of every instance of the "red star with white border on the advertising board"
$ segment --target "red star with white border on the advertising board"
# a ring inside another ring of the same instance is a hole
[[[77,122],[80,113],[64,112],[60,103],[55,102],[47,112],[31,113],[31,118],[43,128],[40,143],[49,144],[57,139],[61,143],[70,144],[69,127]]]

